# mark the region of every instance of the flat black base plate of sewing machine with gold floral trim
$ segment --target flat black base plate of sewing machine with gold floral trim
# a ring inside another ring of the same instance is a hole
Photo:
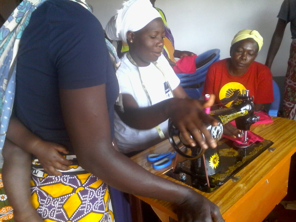
[[[239,172],[239,170],[252,162],[252,160],[273,144],[272,141],[265,139],[261,142],[252,144],[250,147],[238,148],[232,143],[232,141],[226,138],[223,138],[218,142],[219,159],[222,166],[219,173],[208,176],[210,187],[207,186],[205,176],[192,176],[190,170],[191,160],[184,160],[178,163],[174,172],[171,169],[166,172],[165,175],[199,189],[202,192],[210,193],[232,178],[233,175]],[[185,180],[180,179],[180,173],[186,173]]]

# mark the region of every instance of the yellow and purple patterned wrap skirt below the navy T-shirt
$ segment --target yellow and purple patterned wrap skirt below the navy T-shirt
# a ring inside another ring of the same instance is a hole
[[[91,173],[75,172],[78,165],[70,168],[62,176],[33,170],[31,199],[44,221],[114,222],[107,184]]]

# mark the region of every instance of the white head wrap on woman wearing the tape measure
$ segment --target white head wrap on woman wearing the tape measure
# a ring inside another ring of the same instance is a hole
[[[108,22],[106,26],[107,36],[112,40],[126,42],[128,31],[138,31],[158,17],[160,17],[159,12],[153,8],[149,0],[126,1],[117,11],[117,15],[113,16]]]

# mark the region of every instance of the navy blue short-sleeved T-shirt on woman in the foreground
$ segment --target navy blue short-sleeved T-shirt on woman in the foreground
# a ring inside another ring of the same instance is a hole
[[[59,89],[106,84],[111,137],[119,88],[102,25],[69,0],[48,0],[33,13],[20,40],[15,112],[33,133],[71,149]],[[81,117],[83,118],[83,117]]]

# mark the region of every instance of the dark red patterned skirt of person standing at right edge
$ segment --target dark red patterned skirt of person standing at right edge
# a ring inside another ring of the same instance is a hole
[[[294,119],[296,117],[296,39],[292,40],[288,69],[285,79],[285,92],[281,117]]]

